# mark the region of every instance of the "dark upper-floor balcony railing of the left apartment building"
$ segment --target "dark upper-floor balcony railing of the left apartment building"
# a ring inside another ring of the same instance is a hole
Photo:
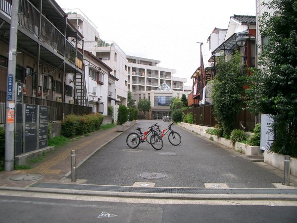
[[[11,0],[0,0],[0,10],[11,16]],[[65,36],[44,16],[41,16],[41,28],[39,25],[40,11],[28,0],[19,1],[18,22],[27,28],[36,37],[49,44],[59,54],[64,56]],[[40,30],[41,29],[41,30]],[[66,40],[65,57],[77,67],[83,67],[83,55]]]

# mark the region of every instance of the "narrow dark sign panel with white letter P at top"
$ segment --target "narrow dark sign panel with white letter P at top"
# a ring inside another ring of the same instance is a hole
[[[22,153],[23,84],[15,83],[15,156]]]

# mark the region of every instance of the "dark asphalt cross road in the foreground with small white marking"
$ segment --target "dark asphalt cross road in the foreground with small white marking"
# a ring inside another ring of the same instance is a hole
[[[293,223],[297,207],[115,203],[0,195],[1,223]],[[227,202],[226,202],[227,203]]]

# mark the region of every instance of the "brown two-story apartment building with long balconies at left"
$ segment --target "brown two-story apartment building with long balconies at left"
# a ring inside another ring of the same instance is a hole
[[[11,2],[1,0],[0,4],[2,92],[7,88]],[[67,113],[80,109],[73,110],[68,105],[51,101],[81,106],[88,104],[85,92],[77,95],[78,89],[84,86],[84,79],[76,80],[83,74],[83,55],[73,44],[81,42],[83,36],[68,22],[67,14],[55,1],[20,0],[18,11],[15,80],[23,84],[25,103],[35,104],[43,100],[42,104],[51,108],[49,120],[62,120]]]

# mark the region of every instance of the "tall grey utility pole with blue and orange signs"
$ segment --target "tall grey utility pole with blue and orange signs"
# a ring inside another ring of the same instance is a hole
[[[5,171],[14,169],[14,112],[15,112],[15,68],[19,0],[12,1],[7,69],[7,97],[5,121]]]

